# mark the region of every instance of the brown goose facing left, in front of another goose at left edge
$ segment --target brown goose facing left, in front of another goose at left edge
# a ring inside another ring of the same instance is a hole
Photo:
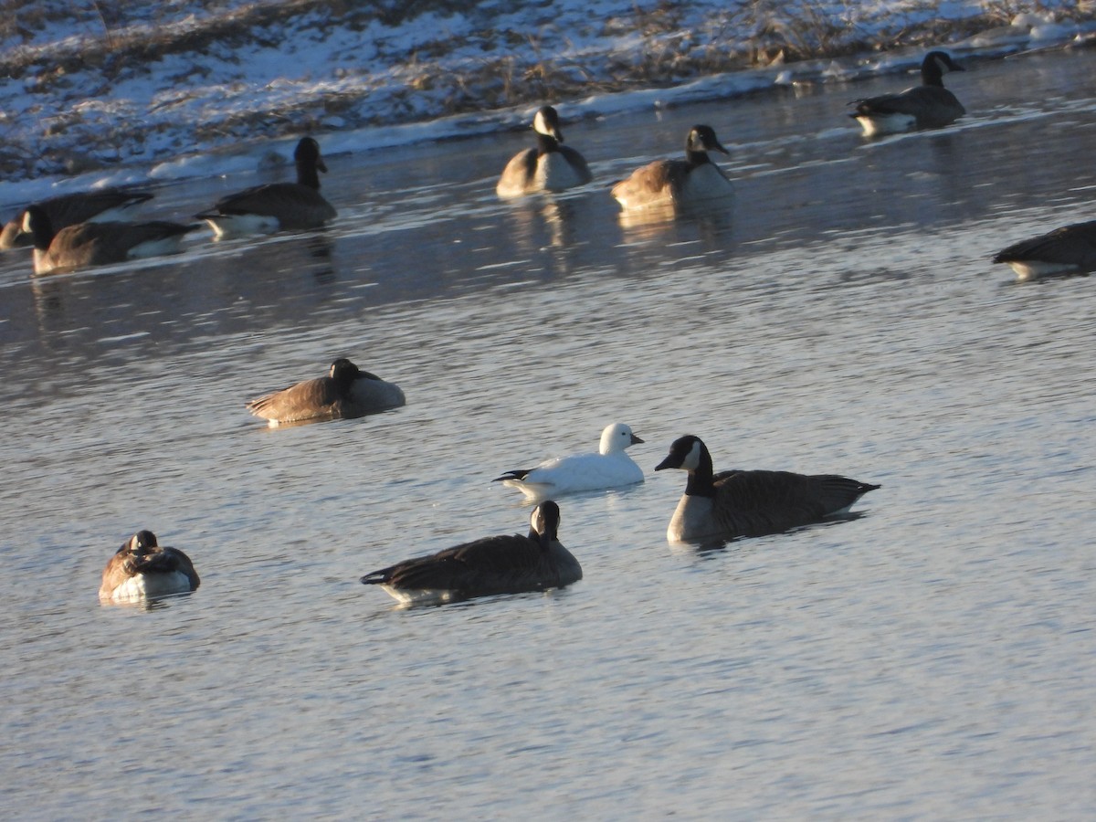
[[[54,231],[49,217],[37,205],[23,215],[23,230],[34,238],[34,272],[109,265],[180,251],[180,242],[201,224],[79,222]]]

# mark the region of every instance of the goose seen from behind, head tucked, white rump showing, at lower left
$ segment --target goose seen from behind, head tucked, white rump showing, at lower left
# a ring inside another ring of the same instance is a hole
[[[139,530],[103,569],[99,598],[124,602],[184,594],[199,584],[190,557],[178,548],[161,547],[152,532]]]

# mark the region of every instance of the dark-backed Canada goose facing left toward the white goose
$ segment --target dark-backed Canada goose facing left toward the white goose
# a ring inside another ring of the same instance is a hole
[[[674,441],[654,470],[664,468],[688,471],[685,494],[666,529],[672,543],[776,534],[844,513],[861,495],[879,488],[832,473],[715,473],[708,448],[693,435]]]

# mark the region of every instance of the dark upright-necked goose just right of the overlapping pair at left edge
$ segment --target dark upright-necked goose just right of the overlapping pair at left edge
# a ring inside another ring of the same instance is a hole
[[[270,233],[285,229],[319,228],[334,219],[334,207],[320,194],[320,175],[328,167],[320,144],[305,137],[293,158],[296,183],[266,183],[244,189],[217,201],[213,208],[194,215],[209,224],[217,237]]]

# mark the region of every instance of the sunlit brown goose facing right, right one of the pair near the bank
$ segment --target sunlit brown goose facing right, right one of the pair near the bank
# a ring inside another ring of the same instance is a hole
[[[613,186],[613,196],[621,206],[693,205],[732,197],[734,189],[709,151],[722,151],[711,126],[693,126],[685,139],[684,160],[655,160],[631,172],[631,176]]]

